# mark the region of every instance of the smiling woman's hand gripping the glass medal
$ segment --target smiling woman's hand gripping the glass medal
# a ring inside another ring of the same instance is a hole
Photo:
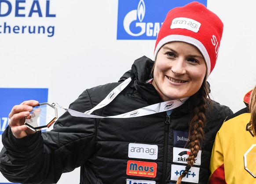
[[[32,106],[37,106],[38,103],[39,102],[36,100],[29,100],[12,108],[11,113],[9,113],[9,126],[15,138],[23,138],[29,134],[36,133],[29,129],[24,123],[26,119],[30,118],[30,112],[33,110]]]

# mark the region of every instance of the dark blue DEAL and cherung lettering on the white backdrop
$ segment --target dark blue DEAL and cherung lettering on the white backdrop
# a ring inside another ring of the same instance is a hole
[[[0,0],[0,34],[47,34],[48,37],[52,37],[55,26],[40,23],[41,18],[56,17],[50,5],[50,0]],[[17,24],[4,21],[7,16],[14,16]],[[31,17],[40,18],[34,21],[39,25],[22,25],[22,21],[28,21],[27,18]]]

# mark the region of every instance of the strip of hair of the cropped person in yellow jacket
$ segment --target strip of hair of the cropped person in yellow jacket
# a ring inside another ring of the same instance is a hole
[[[250,124],[252,125],[252,131],[256,135],[256,86],[252,89],[249,112],[251,113]]]

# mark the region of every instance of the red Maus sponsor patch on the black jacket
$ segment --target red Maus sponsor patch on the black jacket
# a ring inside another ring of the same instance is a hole
[[[128,160],[126,174],[139,177],[156,177],[157,163]]]

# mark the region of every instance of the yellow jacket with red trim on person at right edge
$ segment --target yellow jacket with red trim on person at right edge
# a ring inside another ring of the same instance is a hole
[[[256,178],[244,168],[244,154],[256,144],[256,137],[246,131],[250,117],[244,108],[228,117],[218,131],[212,149],[209,184],[256,183]]]

